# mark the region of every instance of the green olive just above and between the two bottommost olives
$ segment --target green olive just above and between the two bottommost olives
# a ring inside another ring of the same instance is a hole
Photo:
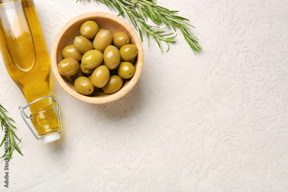
[[[107,66],[100,65],[92,73],[92,84],[98,88],[102,88],[106,85],[110,77],[110,71]]]

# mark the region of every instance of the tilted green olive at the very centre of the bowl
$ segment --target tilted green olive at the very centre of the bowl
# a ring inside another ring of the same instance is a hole
[[[87,69],[94,69],[103,62],[103,54],[98,50],[90,50],[83,55],[81,61]]]

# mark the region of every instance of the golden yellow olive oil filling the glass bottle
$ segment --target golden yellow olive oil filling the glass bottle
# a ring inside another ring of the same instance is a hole
[[[10,77],[28,103],[48,96],[50,56],[34,1],[0,0],[0,20],[0,50]],[[60,131],[58,112],[51,98],[31,104],[30,110],[39,136]]]

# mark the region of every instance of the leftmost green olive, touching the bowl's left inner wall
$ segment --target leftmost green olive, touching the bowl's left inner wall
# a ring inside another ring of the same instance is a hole
[[[74,58],[65,58],[58,64],[58,71],[61,75],[72,76],[79,70],[79,63]]]

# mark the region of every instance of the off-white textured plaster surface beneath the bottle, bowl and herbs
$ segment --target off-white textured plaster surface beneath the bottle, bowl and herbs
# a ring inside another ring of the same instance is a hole
[[[94,1],[35,3],[49,50],[74,16],[117,14]],[[288,1],[158,3],[190,19],[203,50],[179,31],[168,53],[144,39],[139,81],[108,104],[72,98],[52,75],[65,128],[56,142],[24,125],[26,101],[1,60],[1,103],[24,154],[13,153],[9,190],[0,160],[1,191],[288,191]]]

